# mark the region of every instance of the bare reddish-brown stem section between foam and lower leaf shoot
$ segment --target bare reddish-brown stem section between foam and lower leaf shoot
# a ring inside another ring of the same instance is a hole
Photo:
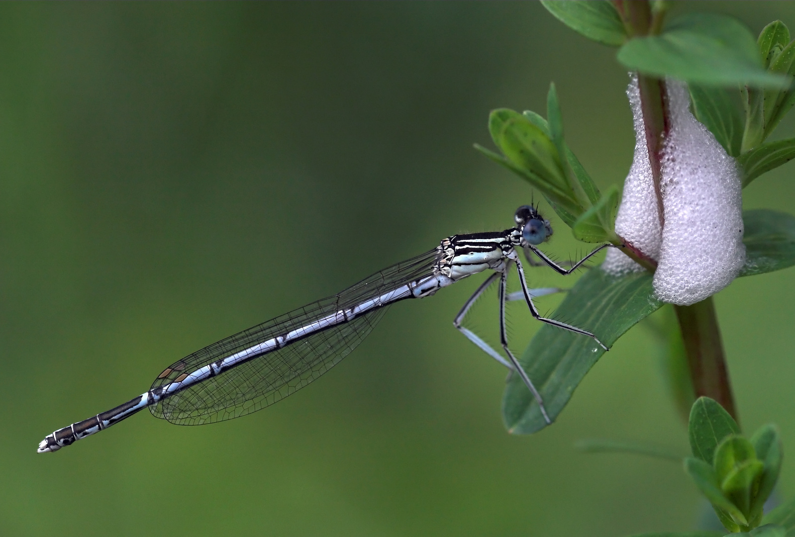
[[[674,309],[696,397],[712,397],[739,423],[712,296],[692,306],[674,306]]]

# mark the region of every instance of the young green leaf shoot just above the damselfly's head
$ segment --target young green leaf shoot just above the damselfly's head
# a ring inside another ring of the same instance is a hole
[[[604,195],[563,138],[563,118],[555,85],[547,95],[547,120],[535,112],[506,108],[489,116],[489,132],[502,155],[475,145],[486,156],[540,191],[580,241],[620,243],[615,231],[618,187]]]

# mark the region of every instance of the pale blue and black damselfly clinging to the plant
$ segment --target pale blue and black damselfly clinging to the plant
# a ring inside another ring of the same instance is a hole
[[[445,238],[429,252],[376,272],[338,295],[204,347],[169,365],[141,396],[48,435],[39,443],[38,452],[60,450],[142,408],[180,425],[212,423],[258,411],[303,388],[339,363],[373,330],[390,304],[431,296],[440,288],[487,269],[494,273],[467,300],[453,324],[489,356],[522,377],[549,423],[541,395],[508,348],[508,271],[516,265],[522,298],[535,319],[593,338],[607,350],[591,332],[541,316],[527,288],[517,249],[532,251],[545,265],[560,274],[569,274],[608,245],[599,246],[570,268],[563,268],[537,248],[553,230],[535,207],[519,207],[514,220],[516,226],[509,230]],[[497,278],[499,335],[507,360],[461,324],[471,305]]]

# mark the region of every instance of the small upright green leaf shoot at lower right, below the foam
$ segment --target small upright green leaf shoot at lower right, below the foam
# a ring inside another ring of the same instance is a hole
[[[684,468],[729,531],[748,531],[762,522],[762,508],[781,470],[781,439],[774,425],[748,439],[715,400],[693,404],[688,427],[693,457]]]

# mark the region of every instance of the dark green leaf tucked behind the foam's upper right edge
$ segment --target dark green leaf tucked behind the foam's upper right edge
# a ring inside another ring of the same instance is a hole
[[[739,156],[745,129],[745,114],[740,92],[733,87],[690,85],[690,98],[696,119],[715,135],[730,156]]]

